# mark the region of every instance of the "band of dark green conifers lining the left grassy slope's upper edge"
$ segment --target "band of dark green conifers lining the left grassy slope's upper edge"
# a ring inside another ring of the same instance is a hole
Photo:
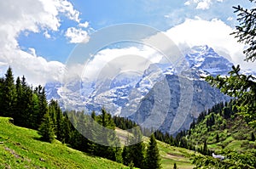
[[[123,117],[112,117],[106,110],[102,114],[86,115],[84,112],[62,111],[58,102],[46,100],[44,87],[30,87],[25,76],[16,81],[9,67],[0,80],[0,116],[12,117],[14,124],[38,130],[41,140],[53,142],[54,139],[73,149],[101,156],[126,166],[139,168],[160,168],[159,150],[154,138],[150,137],[148,147],[143,143],[140,127]],[[93,127],[100,124],[101,127]],[[132,129],[127,136],[127,145],[121,148],[114,129]],[[110,129],[110,130],[108,130]],[[86,138],[85,136],[89,136]],[[91,140],[96,140],[93,142]]]

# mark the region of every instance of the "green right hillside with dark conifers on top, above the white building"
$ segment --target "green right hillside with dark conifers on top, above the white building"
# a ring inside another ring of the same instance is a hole
[[[205,115],[205,116],[204,116]],[[189,143],[202,145],[207,140],[211,151],[235,149],[247,152],[256,149],[255,129],[247,126],[241,116],[232,110],[232,104],[217,104],[208,113],[201,114],[198,124],[195,124],[187,136]]]

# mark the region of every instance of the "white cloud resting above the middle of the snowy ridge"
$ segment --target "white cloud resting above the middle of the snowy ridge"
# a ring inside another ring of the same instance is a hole
[[[100,73],[110,76],[111,70],[131,70],[143,74],[148,65],[158,63],[162,57],[162,54],[148,46],[103,49],[84,65],[83,78],[94,81]],[[106,66],[109,68],[106,69]],[[106,72],[101,72],[102,70]]]

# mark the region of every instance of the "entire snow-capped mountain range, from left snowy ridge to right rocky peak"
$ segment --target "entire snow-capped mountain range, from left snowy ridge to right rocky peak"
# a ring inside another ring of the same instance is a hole
[[[183,54],[184,59],[176,65],[152,64],[143,75],[122,74],[104,82],[77,79],[65,87],[61,83],[47,84],[47,98],[60,100],[62,108],[85,109],[89,113],[104,107],[113,115],[130,117],[145,127],[151,124],[175,133],[187,129],[201,111],[230,99],[201,79],[227,75],[232,66],[228,59],[208,46],[190,48]],[[163,115],[161,110],[165,110]]]

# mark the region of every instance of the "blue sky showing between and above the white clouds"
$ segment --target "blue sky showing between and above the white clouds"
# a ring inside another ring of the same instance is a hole
[[[234,0],[212,1],[209,8],[196,8],[198,3],[185,5],[184,3],[187,1],[183,0],[72,0],[70,2],[81,13],[79,16],[81,21],[89,22],[92,29],[90,32],[109,25],[122,23],[150,25],[160,31],[166,31],[174,25],[181,24],[185,19],[193,19],[195,16],[200,17],[202,20],[218,18],[227,25],[234,26],[236,20],[230,21],[228,18],[236,17],[232,6],[239,4],[239,1]],[[244,2],[247,1],[243,1],[243,6],[252,5]],[[61,16],[60,31],[49,31],[52,36],[50,39],[44,37],[44,32],[29,33],[28,36],[21,32],[19,36],[20,47],[24,50],[35,48],[37,54],[44,56],[45,59],[65,63],[68,54],[75,47],[75,44],[68,42],[67,38],[63,36],[64,31],[71,26],[77,26],[77,23]],[[88,29],[85,30],[88,31]],[[56,48],[59,49],[56,50]]]

